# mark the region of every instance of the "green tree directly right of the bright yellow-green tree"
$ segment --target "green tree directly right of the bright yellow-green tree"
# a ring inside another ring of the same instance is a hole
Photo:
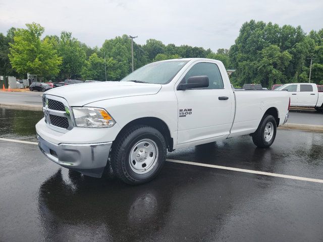
[[[80,78],[86,60],[81,42],[72,38],[72,33],[63,31],[57,44],[57,51],[63,57],[60,78]]]

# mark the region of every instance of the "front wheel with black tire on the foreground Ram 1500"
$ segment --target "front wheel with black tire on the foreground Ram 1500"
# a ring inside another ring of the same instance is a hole
[[[124,131],[111,151],[111,166],[118,178],[130,185],[153,179],[163,168],[167,146],[156,129],[138,125]]]

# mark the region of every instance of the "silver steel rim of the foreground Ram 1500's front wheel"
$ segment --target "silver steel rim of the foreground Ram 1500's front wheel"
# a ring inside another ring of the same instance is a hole
[[[129,164],[137,174],[149,172],[157,163],[158,149],[153,140],[138,141],[130,150]]]

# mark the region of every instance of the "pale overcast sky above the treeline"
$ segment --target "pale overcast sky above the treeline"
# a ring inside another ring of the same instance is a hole
[[[36,22],[45,34],[66,30],[92,47],[129,34],[139,44],[154,38],[216,51],[234,44],[251,19],[300,25],[306,33],[323,28],[322,0],[0,0],[0,10],[0,32]]]

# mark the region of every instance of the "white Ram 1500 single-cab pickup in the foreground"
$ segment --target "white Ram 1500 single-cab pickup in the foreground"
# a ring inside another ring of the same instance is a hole
[[[167,150],[241,135],[271,146],[289,101],[288,92],[234,90],[220,61],[173,59],[120,82],[45,92],[36,131],[40,150],[61,166],[100,177],[110,162],[123,181],[140,184],[158,174]]]

